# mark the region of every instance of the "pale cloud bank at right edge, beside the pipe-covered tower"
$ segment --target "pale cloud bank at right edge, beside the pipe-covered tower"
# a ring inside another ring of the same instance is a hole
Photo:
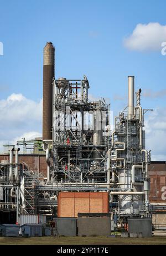
[[[166,160],[166,108],[155,109],[145,121],[146,148],[152,150],[151,160]],[[146,119],[146,118],[145,118]]]

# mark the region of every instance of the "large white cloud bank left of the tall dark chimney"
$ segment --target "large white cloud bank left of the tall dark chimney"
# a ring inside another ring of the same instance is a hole
[[[40,137],[42,130],[42,100],[35,102],[13,93],[0,100],[0,147],[15,144],[19,139]]]

